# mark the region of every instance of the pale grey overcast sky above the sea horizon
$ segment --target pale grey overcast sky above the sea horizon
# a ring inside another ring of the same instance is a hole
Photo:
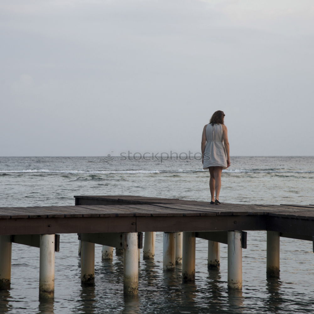
[[[313,0],[1,0],[0,155],[314,155]],[[112,154],[112,153],[111,153]]]

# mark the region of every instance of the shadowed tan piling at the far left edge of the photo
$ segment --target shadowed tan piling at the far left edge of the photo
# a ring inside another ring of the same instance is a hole
[[[11,236],[0,236],[0,289],[10,289],[11,256]]]

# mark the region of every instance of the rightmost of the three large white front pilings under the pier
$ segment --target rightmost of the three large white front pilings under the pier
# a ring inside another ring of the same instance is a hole
[[[242,289],[242,231],[228,231],[228,288]]]

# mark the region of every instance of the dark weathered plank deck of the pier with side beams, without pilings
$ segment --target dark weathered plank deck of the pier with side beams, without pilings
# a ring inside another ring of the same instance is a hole
[[[314,205],[211,205],[128,195],[75,196],[75,204],[0,207],[0,235],[268,230],[314,236]]]

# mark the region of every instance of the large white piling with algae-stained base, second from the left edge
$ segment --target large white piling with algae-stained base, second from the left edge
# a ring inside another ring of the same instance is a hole
[[[55,235],[40,235],[39,299],[55,293]]]

